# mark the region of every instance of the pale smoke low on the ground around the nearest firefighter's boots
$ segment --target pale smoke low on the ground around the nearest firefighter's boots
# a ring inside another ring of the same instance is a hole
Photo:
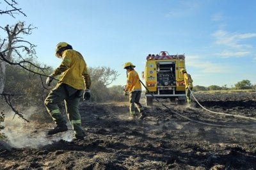
[[[36,107],[30,107],[28,110],[23,111],[26,113],[24,117],[29,120],[29,117],[35,111]],[[13,118],[13,115],[13,112],[6,112],[6,118],[3,123],[5,128],[2,130],[8,138],[8,144],[13,148],[40,148],[60,141],[60,139],[65,141],[72,140],[72,130],[49,137],[47,136],[47,130],[49,130],[50,126],[53,127],[53,123],[38,123],[36,121],[28,123],[17,116]]]

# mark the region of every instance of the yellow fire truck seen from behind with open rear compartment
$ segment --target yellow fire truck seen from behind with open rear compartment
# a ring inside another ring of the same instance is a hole
[[[145,72],[146,105],[152,105],[154,98],[170,98],[177,104],[186,99],[184,77],[180,69],[185,68],[185,55],[170,55],[167,51],[148,54]],[[154,97],[152,96],[154,95]]]

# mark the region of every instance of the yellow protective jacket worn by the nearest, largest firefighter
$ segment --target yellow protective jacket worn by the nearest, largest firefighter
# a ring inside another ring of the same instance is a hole
[[[91,79],[83,56],[76,50],[65,50],[62,54],[61,65],[51,74],[60,76],[60,83],[65,83],[75,89],[90,89]]]

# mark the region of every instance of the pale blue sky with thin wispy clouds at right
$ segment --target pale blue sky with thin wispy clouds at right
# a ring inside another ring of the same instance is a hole
[[[38,27],[25,38],[53,68],[61,63],[56,44],[67,42],[88,66],[118,71],[113,85],[125,84],[125,62],[141,75],[147,55],[162,50],[185,54],[194,86],[256,84],[255,0],[16,1],[28,17],[1,15],[1,26],[20,20]]]

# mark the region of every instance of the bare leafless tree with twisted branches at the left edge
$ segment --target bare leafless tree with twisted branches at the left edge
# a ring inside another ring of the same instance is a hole
[[[16,7],[16,1],[4,0],[4,3],[6,3],[6,10],[0,10],[1,15],[7,14],[15,17],[17,14],[22,14],[26,17],[21,8]],[[32,27],[31,25],[26,26],[24,22],[18,22],[14,26],[7,25],[5,27],[0,26],[0,28],[3,29],[7,35],[7,38],[3,38],[2,40],[0,39],[0,95],[4,97],[6,104],[12,108],[15,115],[18,115],[20,118],[26,120],[26,118],[23,117],[23,113],[17,111],[11,102],[12,97],[23,94],[17,95],[4,93],[4,79],[7,64],[18,65],[25,70],[28,70],[28,72],[40,75],[41,80],[42,76],[47,76],[44,73],[44,70],[47,69],[45,66],[41,67],[33,64],[33,59],[36,58],[36,46],[22,38],[24,35],[31,35],[32,30],[36,27]]]

